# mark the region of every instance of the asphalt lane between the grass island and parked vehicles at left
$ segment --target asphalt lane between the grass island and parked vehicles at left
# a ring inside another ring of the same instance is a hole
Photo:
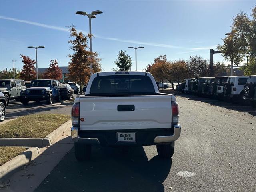
[[[74,95],[74,97],[79,94]],[[62,100],[63,101],[63,100]],[[27,106],[24,106],[21,102],[12,100],[6,107],[6,120],[12,118],[18,118],[24,115],[38,114],[38,113],[54,113],[54,114],[70,114],[71,106],[61,105],[60,102],[54,102],[49,105],[46,101],[40,103],[29,102]]]

